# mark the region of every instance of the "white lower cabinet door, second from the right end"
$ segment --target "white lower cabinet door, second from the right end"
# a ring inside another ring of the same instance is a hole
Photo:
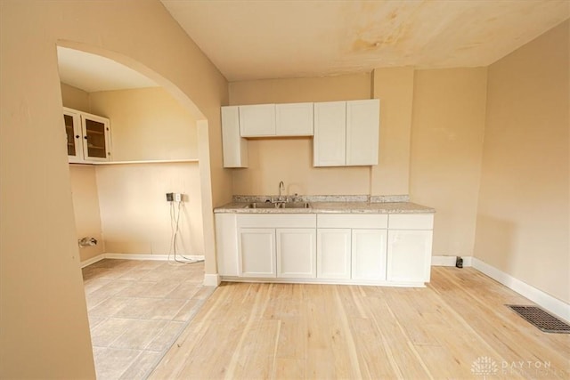
[[[386,280],[387,230],[352,230],[352,279]]]

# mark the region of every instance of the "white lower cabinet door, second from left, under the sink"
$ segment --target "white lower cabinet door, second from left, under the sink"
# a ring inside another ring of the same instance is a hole
[[[277,229],[277,277],[314,279],[316,230]]]

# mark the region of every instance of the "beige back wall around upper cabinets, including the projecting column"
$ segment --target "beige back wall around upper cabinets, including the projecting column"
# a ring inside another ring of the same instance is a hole
[[[380,100],[378,166],[314,168],[311,138],[249,140],[249,166],[233,172],[233,192],[275,194],[282,180],[288,194],[408,194],[413,78],[414,69],[394,68],[371,75],[231,83],[234,105]]]

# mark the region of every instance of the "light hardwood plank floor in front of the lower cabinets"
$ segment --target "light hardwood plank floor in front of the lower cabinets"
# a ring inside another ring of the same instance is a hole
[[[426,288],[224,283],[151,375],[190,378],[570,378],[570,335],[470,268]]]

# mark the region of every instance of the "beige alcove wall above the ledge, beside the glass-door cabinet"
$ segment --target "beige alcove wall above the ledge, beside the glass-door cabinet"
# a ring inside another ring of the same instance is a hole
[[[198,158],[196,121],[163,88],[89,93],[89,104],[111,120],[113,161]]]

